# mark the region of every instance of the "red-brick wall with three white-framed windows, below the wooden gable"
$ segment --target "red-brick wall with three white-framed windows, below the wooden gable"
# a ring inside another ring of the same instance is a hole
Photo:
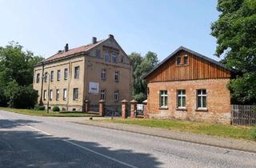
[[[230,123],[229,78],[178,82],[150,82],[148,114],[150,118],[179,118],[192,121]],[[207,111],[196,110],[196,90],[206,89]],[[168,91],[168,109],[159,109],[159,90]],[[177,110],[177,90],[186,90],[186,110]]]

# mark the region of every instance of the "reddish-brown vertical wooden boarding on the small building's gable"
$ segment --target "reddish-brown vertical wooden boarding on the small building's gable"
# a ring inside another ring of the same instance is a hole
[[[176,65],[176,58],[183,58],[184,55],[188,56],[188,64]],[[230,70],[181,50],[147,76],[146,81],[165,82],[206,78],[230,78]]]

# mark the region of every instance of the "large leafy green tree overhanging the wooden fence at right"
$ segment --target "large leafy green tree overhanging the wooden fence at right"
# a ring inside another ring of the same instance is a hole
[[[224,54],[226,66],[241,72],[228,86],[232,101],[256,103],[256,1],[219,0],[217,10],[219,18],[211,26],[215,54]]]

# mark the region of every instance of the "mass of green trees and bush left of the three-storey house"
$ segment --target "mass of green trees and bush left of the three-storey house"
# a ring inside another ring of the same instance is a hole
[[[0,46],[0,106],[34,106],[38,94],[30,85],[34,66],[42,59],[31,51],[23,51],[18,42]]]

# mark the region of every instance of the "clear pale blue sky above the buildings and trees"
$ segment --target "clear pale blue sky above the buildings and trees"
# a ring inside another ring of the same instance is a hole
[[[114,34],[126,54],[153,51],[162,60],[178,46],[211,58],[218,18],[215,0],[0,0],[0,46],[12,40],[49,57]]]

